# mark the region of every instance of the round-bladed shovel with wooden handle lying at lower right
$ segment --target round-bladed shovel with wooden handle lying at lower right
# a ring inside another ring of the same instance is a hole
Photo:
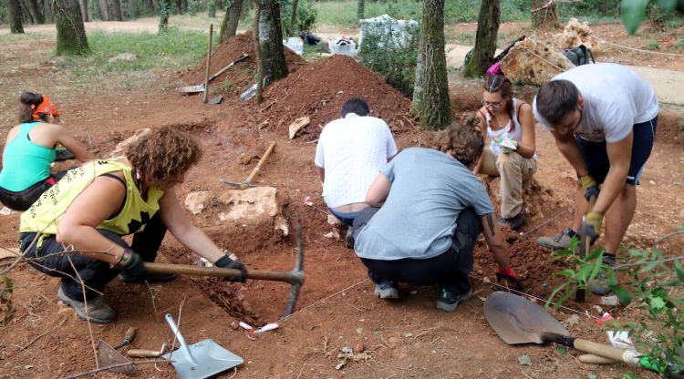
[[[640,354],[571,337],[544,308],[509,292],[493,292],[484,302],[484,317],[504,343],[558,343],[617,362],[639,365]]]

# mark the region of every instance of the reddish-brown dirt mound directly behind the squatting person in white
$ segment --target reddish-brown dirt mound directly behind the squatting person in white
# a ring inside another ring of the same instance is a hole
[[[410,100],[385,81],[385,77],[363,67],[348,56],[329,56],[301,67],[264,92],[264,102],[255,104],[254,115],[268,120],[268,128],[282,130],[297,118],[308,117],[310,123],[299,132],[298,139],[318,138],[326,123],[340,118],[342,105],[350,97],[363,97],[371,116],[384,119],[395,135],[411,128]]]

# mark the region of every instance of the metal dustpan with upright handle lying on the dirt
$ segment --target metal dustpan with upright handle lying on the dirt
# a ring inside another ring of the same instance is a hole
[[[244,359],[225,350],[220,344],[206,339],[199,343],[189,345],[185,342],[178,325],[173,321],[171,314],[166,314],[166,322],[181,347],[163,358],[173,361],[173,368],[181,379],[202,379],[219,374],[238,364],[243,364]]]

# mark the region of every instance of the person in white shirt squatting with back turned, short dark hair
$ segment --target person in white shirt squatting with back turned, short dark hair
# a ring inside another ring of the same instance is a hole
[[[330,212],[349,226],[347,247],[353,248],[351,226],[365,202],[378,172],[397,154],[397,145],[385,121],[368,116],[362,98],[348,99],[342,118],[323,128],[316,146],[316,170],[323,181],[323,199]]]

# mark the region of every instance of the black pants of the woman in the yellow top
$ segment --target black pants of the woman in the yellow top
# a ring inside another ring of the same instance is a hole
[[[98,231],[109,241],[124,248],[129,247],[119,234],[109,230]],[[159,251],[161,241],[164,239],[164,234],[166,234],[166,226],[157,214],[147,223],[145,230],[133,236],[133,243],[130,248],[139,253],[143,261],[154,261],[157,258],[157,251]],[[21,251],[24,251],[24,256],[29,259],[38,258],[37,261],[30,261],[31,266],[47,275],[61,277],[62,290],[71,299],[83,299],[83,286],[81,282],[78,282],[78,277],[86,286],[86,299],[92,300],[98,296],[98,292],[104,292],[107,284],[119,274],[119,270],[110,268],[106,261],[88,258],[76,252],[60,254],[59,252],[64,251],[64,247],[57,242],[54,236],[45,238],[39,249],[36,249],[36,244],[34,244],[28,250],[26,248],[36,238],[36,233],[21,233],[20,238]],[[71,275],[73,278],[65,274]]]

